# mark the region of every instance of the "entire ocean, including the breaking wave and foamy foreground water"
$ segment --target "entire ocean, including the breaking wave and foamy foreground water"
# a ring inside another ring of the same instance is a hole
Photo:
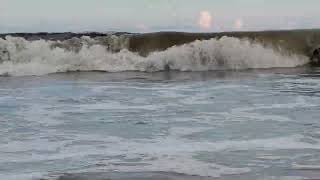
[[[318,31],[0,37],[0,179],[320,177]]]

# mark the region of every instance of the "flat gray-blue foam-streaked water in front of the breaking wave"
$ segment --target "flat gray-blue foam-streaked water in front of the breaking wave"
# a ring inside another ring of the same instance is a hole
[[[0,77],[0,179],[320,177],[320,69]]]

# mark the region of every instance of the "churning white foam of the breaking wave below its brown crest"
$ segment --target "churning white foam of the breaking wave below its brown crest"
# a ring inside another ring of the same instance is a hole
[[[224,36],[196,40],[146,56],[128,49],[129,39],[83,36],[65,41],[0,38],[0,75],[44,75],[72,71],[208,71],[296,67],[309,58],[288,54],[248,39]]]

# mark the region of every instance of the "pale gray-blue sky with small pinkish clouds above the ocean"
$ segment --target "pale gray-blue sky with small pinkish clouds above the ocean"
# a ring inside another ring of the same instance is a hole
[[[320,0],[0,0],[0,33],[320,28]]]

